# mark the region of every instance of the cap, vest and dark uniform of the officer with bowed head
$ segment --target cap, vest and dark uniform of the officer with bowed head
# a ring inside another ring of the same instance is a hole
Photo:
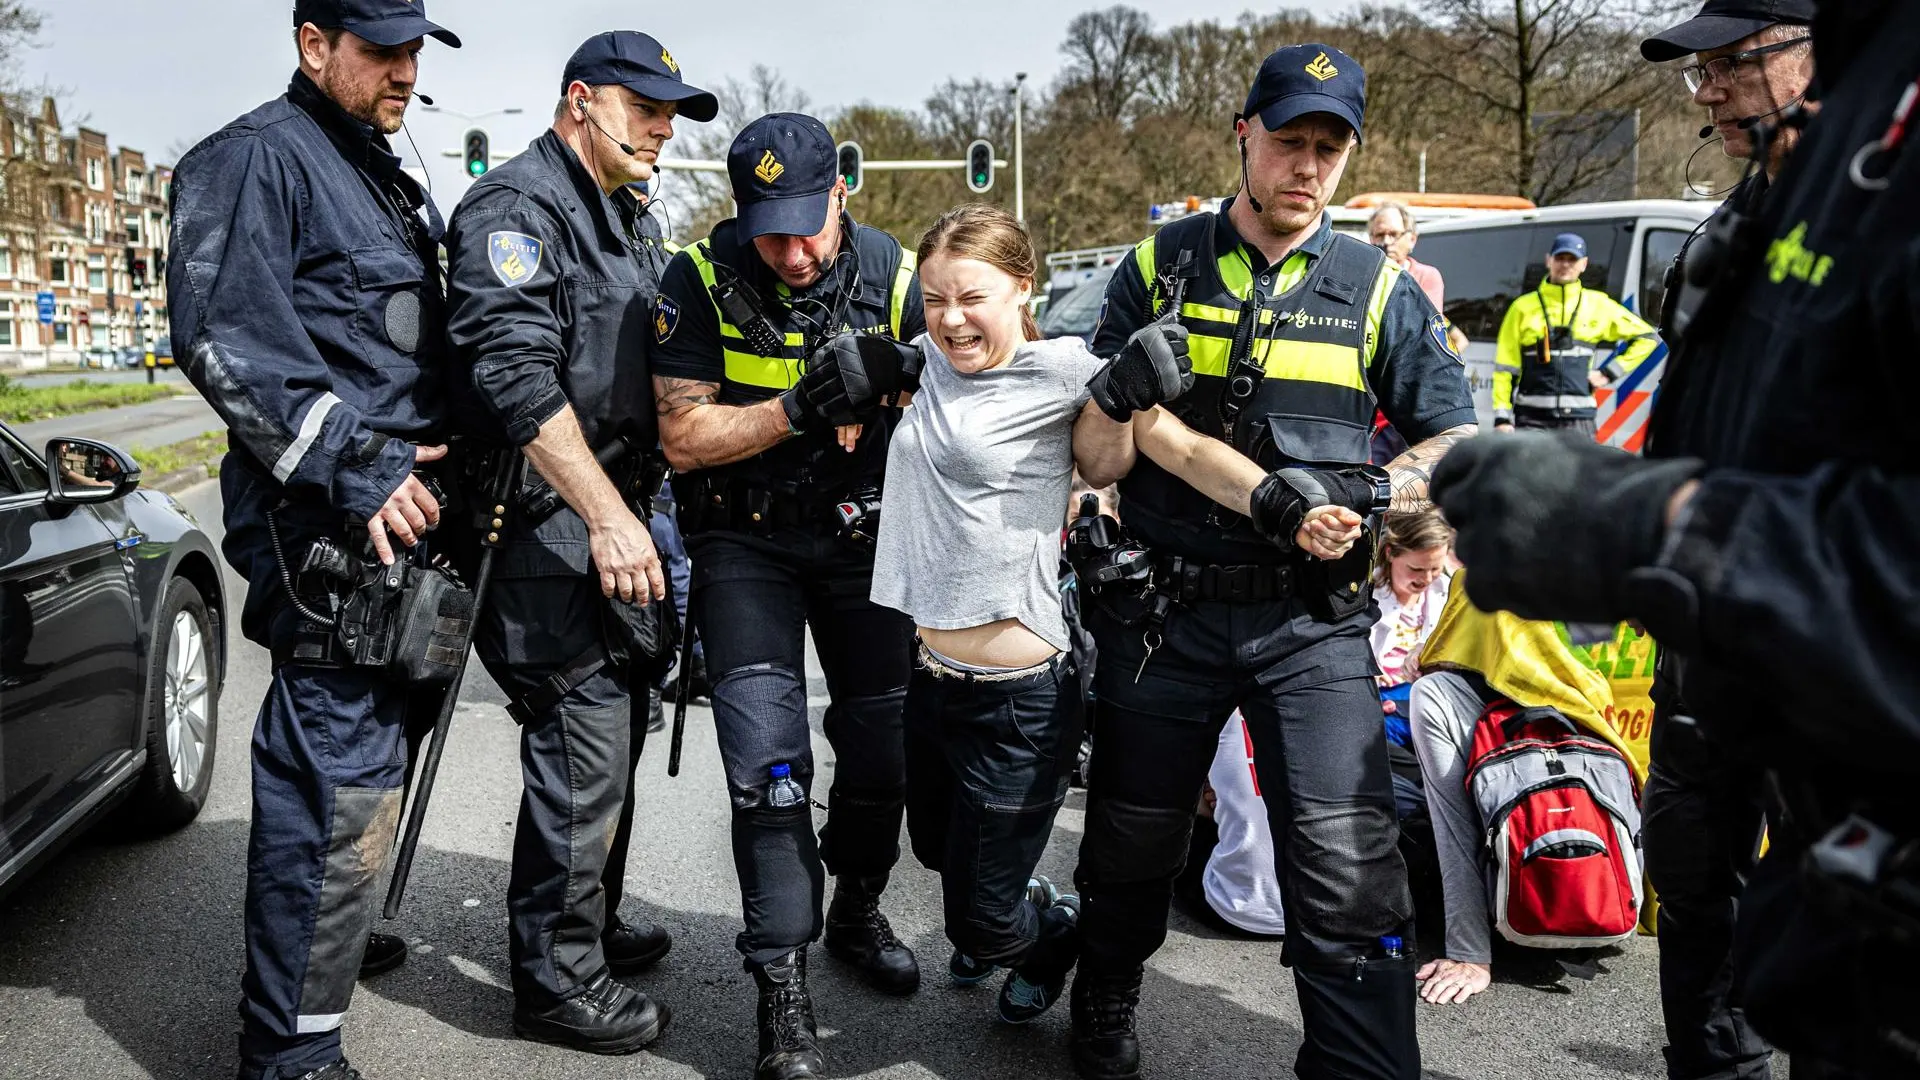
[[[841,213],[841,248],[818,282],[787,288],[760,261],[745,217],[722,221],[666,269],[655,309],[655,375],[716,384],[718,404],[751,405],[795,386],[806,357],[833,336],[851,331],[910,342],[925,331],[912,254],[856,225],[843,208],[829,209],[837,160],[820,121],[762,117],[741,133],[728,160],[743,215],[755,202],[818,204],[820,215],[803,234]],[[737,307],[743,294],[756,317]],[[862,899],[885,942],[904,953],[872,903],[899,859],[906,788],[900,707],[914,628],[870,600],[872,548],[835,515],[843,502],[877,505],[889,413],[883,407],[864,425],[851,454],[820,425],[745,461],[674,477],[693,559],[689,611],[707,650],[733,807],[745,917],[737,947],[749,965],[766,965],[822,934],[824,871],[837,878],[835,909]],[[804,801],[770,801],[776,765],[812,788],[808,626],[831,698],[824,723],[837,759],[818,844]],[[833,944],[828,926],[829,949]]]

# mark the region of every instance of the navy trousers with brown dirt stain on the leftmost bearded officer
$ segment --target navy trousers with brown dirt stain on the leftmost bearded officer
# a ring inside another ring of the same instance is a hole
[[[286,1080],[342,1057],[405,798],[413,698],[365,669],[273,675],[253,723],[242,1076]]]

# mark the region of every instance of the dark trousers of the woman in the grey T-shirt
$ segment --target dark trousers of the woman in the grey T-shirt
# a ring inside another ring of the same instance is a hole
[[[941,874],[956,949],[1035,978],[1079,955],[1066,920],[1027,899],[1079,751],[1079,676],[1068,653],[1004,682],[914,669],[906,686],[906,834]]]

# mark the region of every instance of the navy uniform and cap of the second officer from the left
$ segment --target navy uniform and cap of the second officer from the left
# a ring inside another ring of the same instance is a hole
[[[566,63],[563,92],[574,81],[678,102],[691,119],[716,110],[655,38],[634,31],[588,38]],[[593,127],[586,138],[624,154]],[[637,477],[657,444],[647,352],[666,258],[636,192],[607,194],[555,131],[474,183],[447,231],[453,359],[461,392],[492,421],[484,434],[526,446],[570,407],[639,517],[649,507]],[[620,440],[630,450],[609,454]],[[647,717],[628,700],[626,671],[605,663],[611,603],[620,600],[601,594],[574,507],[509,527],[474,646],[515,698],[509,713],[520,724],[524,790],[507,909],[522,1009],[599,986],[609,959],[622,961],[614,934],[632,932],[618,907]],[[664,953],[664,932],[647,934],[653,955],[634,957],[636,967]]]

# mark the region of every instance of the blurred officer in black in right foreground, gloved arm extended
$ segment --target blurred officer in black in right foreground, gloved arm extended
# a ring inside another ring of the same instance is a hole
[[[1820,111],[1688,258],[1653,459],[1515,436],[1434,479],[1476,603],[1640,619],[1709,744],[1766,769],[1730,999],[1795,1076],[1920,1072],[1920,475],[1878,423],[1920,392],[1914,42],[1912,4],[1816,4]]]

